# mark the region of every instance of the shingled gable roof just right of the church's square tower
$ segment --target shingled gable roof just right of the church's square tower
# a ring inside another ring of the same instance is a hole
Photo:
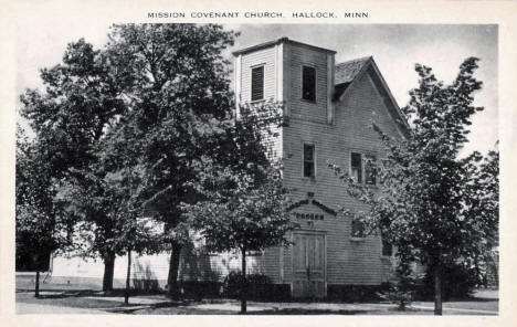
[[[400,127],[400,130],[408,136],[409,125],[405,120],[402,112],[399,108],[393,95],[391,94],[390,88],[386,84],[384,78],[382,77],[379,68],[377,67],[376,62],[372,56],[363,56],[350,61],[339,63],[335,67],[335,91],[334,91],[334,101],[339,101],[341,96],[347,92],[350,85],[355,81],[359,80],[360,76],[368,71],[369,67],[372,67],[374,81],[373,83],[378,87],[379,92],[384,97],[384,103],[388,105],[389,110],[394,116],[397,125]]]

